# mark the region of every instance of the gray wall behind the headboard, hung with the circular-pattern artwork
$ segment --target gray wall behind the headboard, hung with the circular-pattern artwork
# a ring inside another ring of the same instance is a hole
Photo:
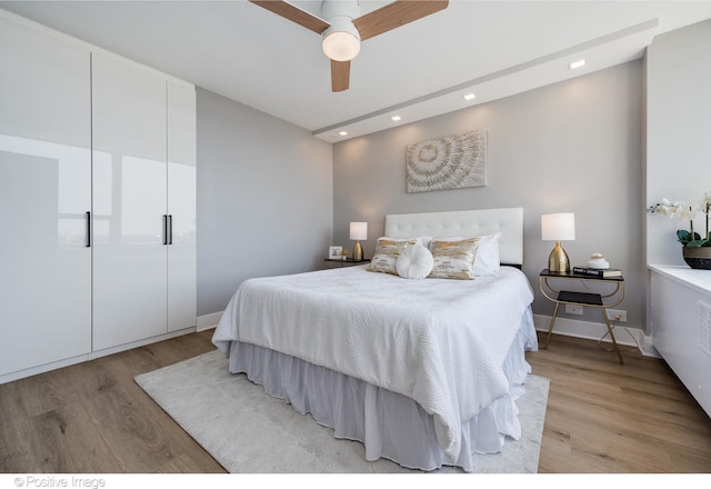
[[[407,193],[404,151],[413,142],[488,130],[488,186]],[[334,144],[334,244],[350,247],[348,223],[369,222],[365,256],[382,236],[384,214],[497,207],[524,209],[523,271],[537,290],[535,313],[552,315],[538,291],[553,242],[540,217],[575,213],[572,265],[602,252],[622,268],[628,326],[644,313],[642,258],[643,64],[633,61],[518,96]],[[599,311],[573,316],[599,322]]]

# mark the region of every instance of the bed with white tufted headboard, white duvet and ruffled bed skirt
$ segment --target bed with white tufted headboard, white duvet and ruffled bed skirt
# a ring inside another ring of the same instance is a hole
[[[538,348],[523,210],[389,214],[384,231],[409,251],[478,238],[488,271],[407,279],[371,263],[246,280],[212,341],[230,372],[362,442],[367,460],[475,471],[474,453],[520,438],[524,352]]]

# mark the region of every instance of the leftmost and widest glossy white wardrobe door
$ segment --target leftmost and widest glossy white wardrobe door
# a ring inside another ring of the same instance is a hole
[[[91,351],[89,52],[0,18],[0,375]]]

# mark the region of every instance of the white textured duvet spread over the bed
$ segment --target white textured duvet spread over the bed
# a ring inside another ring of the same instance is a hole
[[[414,399],[453,461],[461,422],[509,392],[502,365],[533,292],[518,269],[407,280],[365,266],[244,281],[212,341],[278,350]]]

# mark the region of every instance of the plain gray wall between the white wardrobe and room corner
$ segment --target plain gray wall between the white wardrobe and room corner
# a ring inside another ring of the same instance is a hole
[[[198,89],[198,316],[244,279],[322,267],[332,181],[330,143]]]

